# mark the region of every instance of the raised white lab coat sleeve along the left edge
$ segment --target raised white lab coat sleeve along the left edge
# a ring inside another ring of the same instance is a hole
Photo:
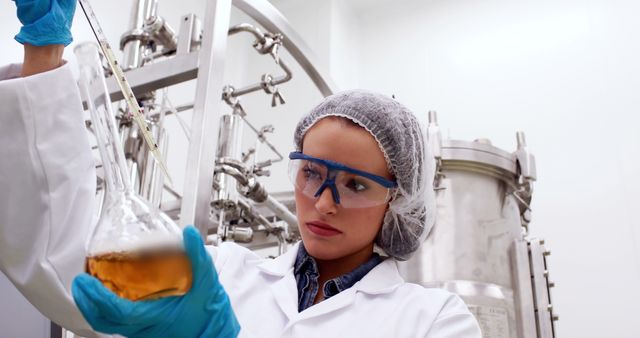
[[[45,316],[99,337],[71,297],[95,225],[95,168],[68,65],[0,68],[0,270]]]

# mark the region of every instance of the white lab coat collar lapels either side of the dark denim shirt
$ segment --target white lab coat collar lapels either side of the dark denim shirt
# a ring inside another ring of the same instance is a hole
[[[300,242],[294,244],[283,255],[275,259],[266,260],[258,265],[258,268],[272,276],[284,277],[287,274],[293,274],[293,266],[300,245]],[[402,283],[404,283],[404,280],[400,276],[396,261],[392,258],[387,258],[351,288],[354,288],[354,291],[369,294],[382,294],[395,290]]]

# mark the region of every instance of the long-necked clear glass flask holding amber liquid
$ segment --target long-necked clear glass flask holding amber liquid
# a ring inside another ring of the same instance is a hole
[[[191,263],[181,229],[133,191],[98,46],[83,43],[74,52],[105,182],[100,219],[87,251],[87,272],[118,296],[134,301],[182,295],[191,287]]]

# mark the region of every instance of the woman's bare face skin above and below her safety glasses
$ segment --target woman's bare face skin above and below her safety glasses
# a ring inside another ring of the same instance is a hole
[[[364,128],[340,119],[324,118],[309,129],[304,137],[303,153],[392,179],[373,136]],[[311,256],[333,260],[373,250],[388,203],[347,209],[334,202],[331,189],[324,189],[318,198],[296,190],[295,198],[300,234]],[[314,223],[324,223],[337,231],[323,231]]]

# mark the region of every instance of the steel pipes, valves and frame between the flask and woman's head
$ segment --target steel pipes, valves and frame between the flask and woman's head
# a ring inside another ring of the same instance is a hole
[[[179,193],[165,182],[159,170],[162,166],[145,146],[145,130],[133,123],[131,104],[121,105],[117,119],[136,193],[179,224],[196,225],[209,242],[232,240],[250,248],[276,247],[280,254],[299,239],[292,195],[281,194],[278,199],[258,178],[268,175],[268,167],[284,158],[268,139],[273,127],[254,126],[241,97],[261,91],[271,96],[272,106],[285,103],[280,86],[292,78],[292,72],[289,61],[280,57],[281,49],[302,66],[322,95],[333,93],[334,86],[315,66],[308,47],[269,2],[233,1],[263,28],[249,23],[229,27],[231,5],[232,1],[207,2],[204,20],[185,15],[175,33],[158,15],[157,1],[140,0],[133,8],[131,29],[120,41],[123,59],[118,63],[126,71],[126,82],[145,113],[159,153],[166,156],[169,135],[164,119],[193,112],[190,130],[182,122],[189,138],[184,191]],[[93,13],[88,16],[90,22],[96,19]],[[257,83],[247,86],[223,83],[227,39],[236,34],[253,36],[254,50],[270,57],[283,74],[264,73]],[[105,67],[107,91],[111,100],[121,101],[121,77],[113,76],[111,69]],[[174,107],[163,90],[191,80],[197,82],[193,103]],[[98,86],[92,89],[88,95],[103,95]],[[86,106],[86,98],[84,101]],[[223,113],[229,110],[230,114]],[[87,125],[91,130],[90,121]],[[246,129],[255,134],[256,143],[243,152],[241,140]],[[210,133],[217,133],[218,139],[207,138]],[[258,157],[263,149],[273,153],[273,158]],[[98,181],[102,182],[101,177]],[[173,199],[163,198],[167,194]]]

